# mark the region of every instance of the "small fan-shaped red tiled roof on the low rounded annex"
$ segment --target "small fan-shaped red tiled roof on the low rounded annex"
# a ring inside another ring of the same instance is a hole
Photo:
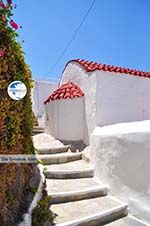
[[[73,82],[69,81],[63,85],[61,85],[57,90],[55,90],[48,99],[44,102],[44,104],[59,99],[73,99],[75,97],[82,97],[84,93],[82,90],[75,85]]]

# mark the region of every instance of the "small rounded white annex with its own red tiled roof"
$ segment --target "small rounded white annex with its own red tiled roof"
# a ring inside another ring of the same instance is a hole
[[[64,141],[84,140],[84,93],[72,82],[55,90],[44,102],[46,128],[53,137]]]

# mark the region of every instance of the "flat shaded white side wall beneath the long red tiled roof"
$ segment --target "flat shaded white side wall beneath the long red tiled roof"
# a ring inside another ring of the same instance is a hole
[[[150,78],[97,71],[96,124],[150,119]]]

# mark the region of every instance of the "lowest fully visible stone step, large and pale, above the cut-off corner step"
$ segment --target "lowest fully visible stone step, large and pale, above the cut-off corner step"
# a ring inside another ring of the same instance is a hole
[[[127,205],[111,196],[54,204],[56,226],[100,226],[127,215]]]

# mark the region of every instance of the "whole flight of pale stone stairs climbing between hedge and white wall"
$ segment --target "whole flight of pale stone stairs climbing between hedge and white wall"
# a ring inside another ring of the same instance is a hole
[[[53,226],[146,226],[128,216],[127,204],[109,195],[81,152],[72,153],[67,145],[45,146],[36,149],[56,216]]]

